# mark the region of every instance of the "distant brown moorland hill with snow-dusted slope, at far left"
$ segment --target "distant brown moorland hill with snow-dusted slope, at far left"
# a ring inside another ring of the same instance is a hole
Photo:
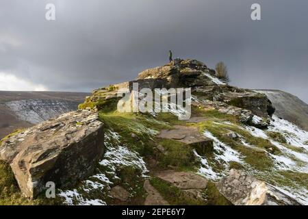
[[[89,95],[83,92],[0,91],[0,138],[77,109]]]

